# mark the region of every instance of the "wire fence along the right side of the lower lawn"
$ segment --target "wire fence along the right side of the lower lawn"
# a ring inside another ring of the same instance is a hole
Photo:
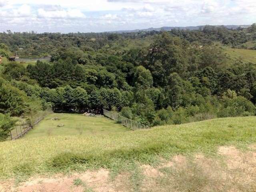
[[[126,126],[132,130],[148,128],[148,126],[145,126],[144,124],[141,124],[140,122],[128,119],[126,117],[123,117],[117,113],[108,111],[106,109],[103,109],[103,114],[104,114],[104,116],[107,116],[108,118],[115,120],[116,122],[121,123],[123,126]]]

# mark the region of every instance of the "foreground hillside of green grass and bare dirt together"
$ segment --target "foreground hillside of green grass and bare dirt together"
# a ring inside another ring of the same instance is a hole
[[[115,134],[24,137],[1,142],[0,183],[3,188],[24,191],[44,187],[49,191],[107,192],[110,188],[141,191],[148,188],[153,192],[160,187],[166,191],[172,188],[185,192],[186,188],[203,191],[211,184],[212,190],[218,188],[222,191],[228,187],[239,187],[244,182],[243,174],[253,180],[249,168],[256,166],[251,156],[256,155],[256,148],[251,148],[256,143],[255,124],[254,117],[219,118]],[[253,154],[250,155],[249,149],[254,151]],[[228,157],[228,161],[223,162],[216,154]],[[242,156],[246,156],[250,164],[244,163],[243,170],[240,170],[238,165]],[[230,164],[230,161],[236,164]],[[228,169],[225,168],[226,163]],[[233,166],[238,166],[239,176],[238,172],[230,172]],[[184,171],[188,173],[184,174]],[[219,178],[222,171],[229,178]],[[59,172],[69,175],[61,178],[60,175],[50,176]],[[176,175],[175,180],[171,180],[173,174]],[[195,174],[197,178],[192,179]],[[40,178],[35,179],[35,176]],[[235,180],[237,176],[239,182]],[[9,181],[6,185],[8,178],[15,178],[21,183],[15,187]],[[22,182],[28,178],[28,182]],[[184,185],[181,180],[190,182]],[[151,186],[154,183],[157,185]],[[248,186],[240,188],[253,191],[255,186],[248,182]]]

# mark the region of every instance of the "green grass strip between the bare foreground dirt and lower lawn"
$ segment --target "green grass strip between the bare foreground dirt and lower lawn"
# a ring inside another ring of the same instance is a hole
[[[87,168],[116,170],[127,163],[156,164],[159,156],[203,152],[256,143],[256,118],[219,118],[150,130],[97,136],[26,137],[0,143],[0,178]]]

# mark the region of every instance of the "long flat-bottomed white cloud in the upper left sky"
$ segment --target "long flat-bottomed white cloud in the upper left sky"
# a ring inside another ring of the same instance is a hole
[[[46,11],[42,8],[38,9],[37,16],[39,18],[66,18],[66,19],[74,19],[74,18],[86,18],[86,16],[80,10],[50,10]]]

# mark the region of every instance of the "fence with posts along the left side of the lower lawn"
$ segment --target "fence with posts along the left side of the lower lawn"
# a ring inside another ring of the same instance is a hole
[[[36,114],[31,115],[26,121],[18,122],[13,130],[10,131],[11,140],[16,140],[26,134],[34,125],[40,122],[46,115],[52,113],[52,109],[38,111]]]

